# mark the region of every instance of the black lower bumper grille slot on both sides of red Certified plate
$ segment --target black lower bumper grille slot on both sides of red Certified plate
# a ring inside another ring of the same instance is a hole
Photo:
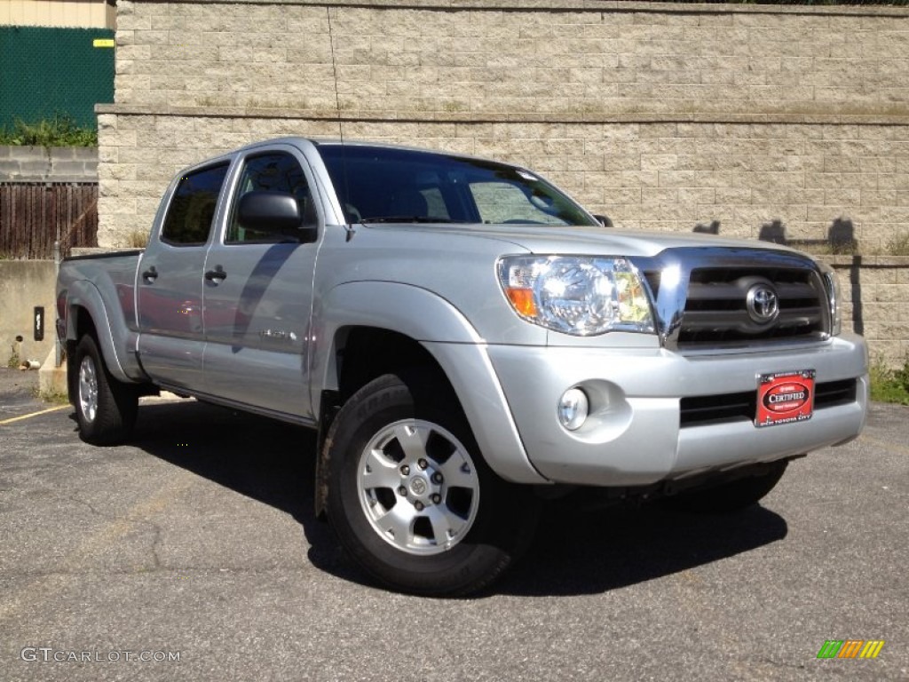
[[[814,410],[855,402],[855,379],[827,381],[814,386]],[[681,426],[704,426],[742,419],[754,421],[757,390],[718,396],[684,397],[680,404]]]

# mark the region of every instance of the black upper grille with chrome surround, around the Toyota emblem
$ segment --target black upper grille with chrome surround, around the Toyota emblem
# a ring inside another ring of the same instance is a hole
[[[778,314],[755,320],[747,298],[775,292]],[[691,272],[677,343],[680,348],[806,341],[824,336],[826,294],[814,271],[800,267],[702,267]]]

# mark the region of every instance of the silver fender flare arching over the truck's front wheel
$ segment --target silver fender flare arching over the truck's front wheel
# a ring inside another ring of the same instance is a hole
[[[311,358],[319,417],[315,511],[325,512],[325,435],[345,399],[370,380],[424,367],[444,381],[464,412],[485,462],[505,480],[545,484],[530,463],[484,339],[452,303],[391,282],[337,286],[317,299]],[[321,343],[319,340],[322,339]]]

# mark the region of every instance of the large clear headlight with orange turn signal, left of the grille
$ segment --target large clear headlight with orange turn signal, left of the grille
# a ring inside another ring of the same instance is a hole
[[[637,269],[621,257],[506,256],[499,281],[519,316],[573,336],[654,331]]]

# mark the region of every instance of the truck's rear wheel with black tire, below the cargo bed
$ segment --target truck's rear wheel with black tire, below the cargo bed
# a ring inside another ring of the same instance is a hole
[[[79,436],[94,445],[123,442],[135,425],[138,390],[110,375],[93,336],[85,335],[79,340],[73,360],[72,402]]]

